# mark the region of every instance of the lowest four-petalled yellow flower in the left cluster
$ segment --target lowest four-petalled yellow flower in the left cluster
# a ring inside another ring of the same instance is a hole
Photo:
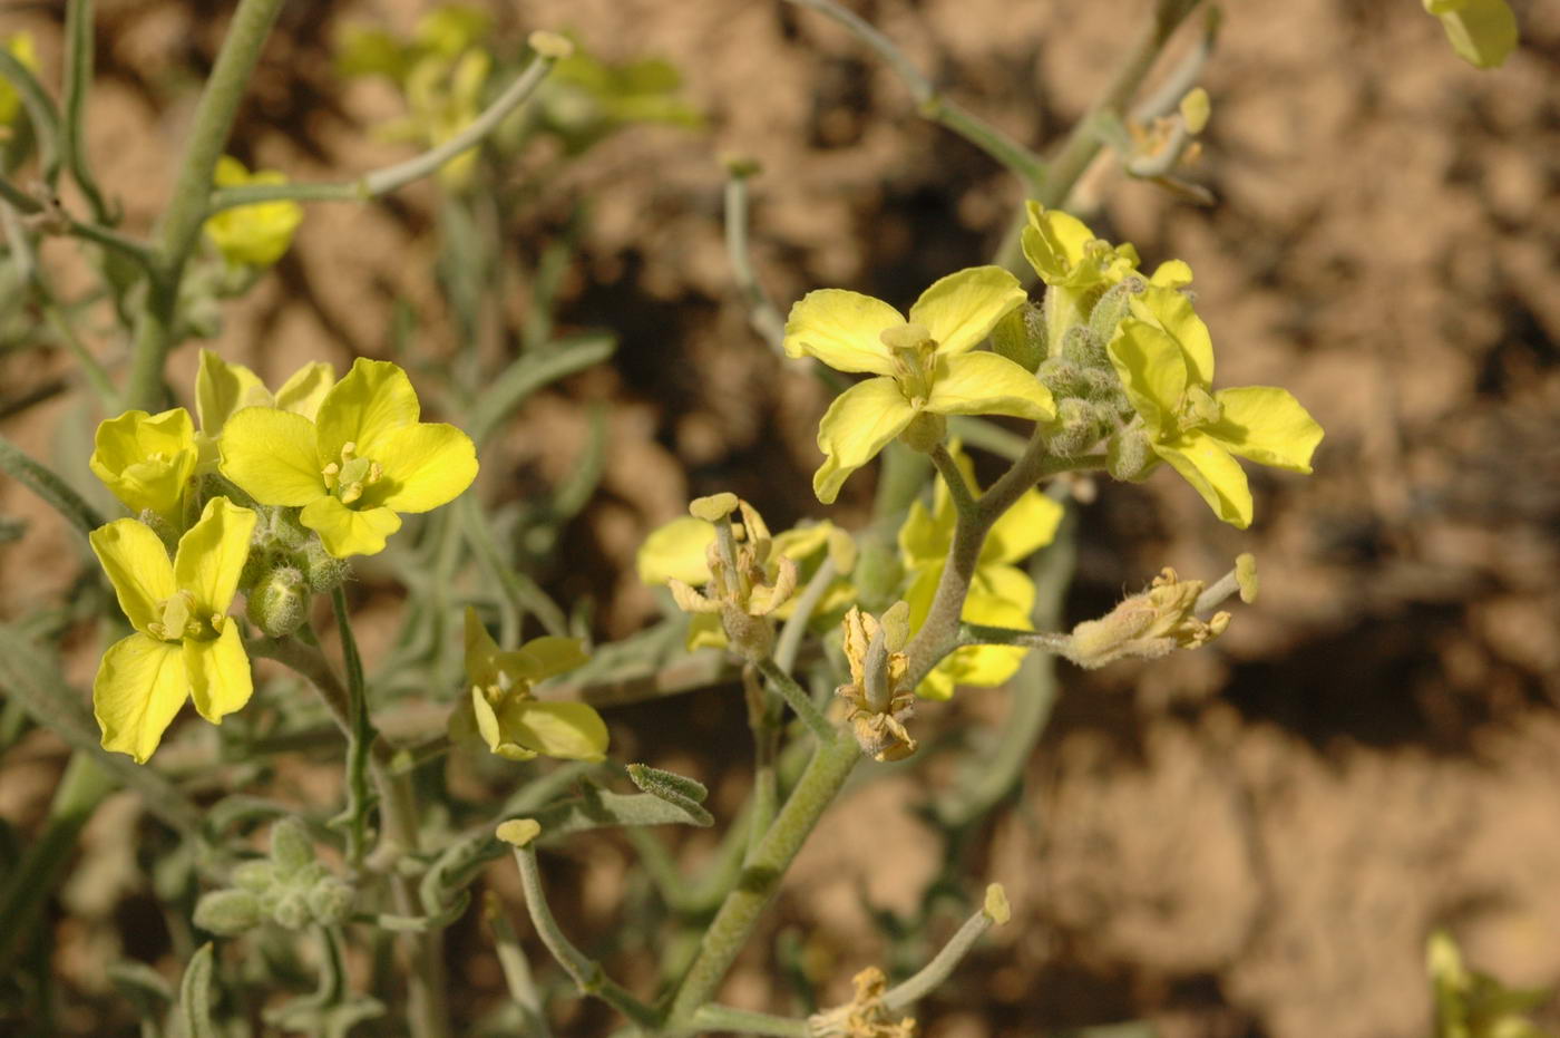
[[[226,613],[253,531],[254,512],[226,498],[206,504],[172,563],[144,523],[115,520],[92,531],[92,551],[136,627],[109,646],[92,682],[105,749],[145,763],[186,698],[212,724],[250,701],[250,657]]]

